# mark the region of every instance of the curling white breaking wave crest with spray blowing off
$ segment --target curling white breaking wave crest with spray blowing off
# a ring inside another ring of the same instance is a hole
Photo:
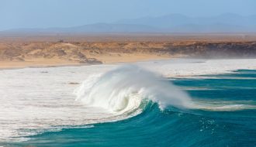
[[[142,101],[153,101],[161,110],[167,106],[190,108],[192,104],[189,96],[170,81],[135,65],[89,77],[75,93],[86,106],[115,113],[133,111]]]

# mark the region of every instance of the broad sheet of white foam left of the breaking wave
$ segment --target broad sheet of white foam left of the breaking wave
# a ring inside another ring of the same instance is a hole
[[[0,142],[20,141],[46,129],[116,120],[103,108],[85,108],[73,91],[111,65],[0,70]],[[47,71],[47,72],[46,72]],[[73,84],[71,84],[73,83]]]

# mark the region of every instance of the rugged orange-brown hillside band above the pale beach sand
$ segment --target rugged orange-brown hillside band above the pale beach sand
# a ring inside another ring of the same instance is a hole
[[[63,60],[73,63],[125,62],[127,58],[255,57],[256,42],[29,42],[0,43],[1,61]],[[123,59],[123,60],[122,60]]]

